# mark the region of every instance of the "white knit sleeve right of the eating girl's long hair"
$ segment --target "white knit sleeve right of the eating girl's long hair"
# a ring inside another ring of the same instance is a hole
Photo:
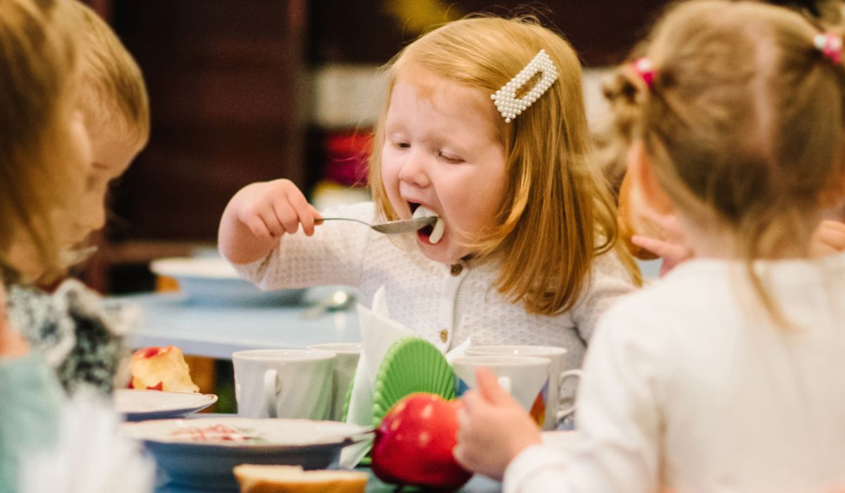
[[[572,309],[572,319],[581,339],[589,344],[602,314],[607,312],[620,296],[635,290],[630,272],[619,260],[615,249],[596,257],[590,271],[590,282],[586,284]]]

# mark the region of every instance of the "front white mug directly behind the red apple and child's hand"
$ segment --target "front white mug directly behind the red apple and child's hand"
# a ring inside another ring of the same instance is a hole
[[[499,385],[542,426],[548,405],[549,365],[548,359],[536,356],[463,356],[452,362],[455,394],[460,397],[467,389],[476,388],[476,370],[483,366],[499,377]]]

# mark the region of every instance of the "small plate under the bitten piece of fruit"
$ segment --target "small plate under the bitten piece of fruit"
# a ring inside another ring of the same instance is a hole
[[[183,418],[215,402],[217,396],[213,393],[162,392],[131,388],[118,388],[114,393],[115,409],[118,413],[126,414],[128,421]]]

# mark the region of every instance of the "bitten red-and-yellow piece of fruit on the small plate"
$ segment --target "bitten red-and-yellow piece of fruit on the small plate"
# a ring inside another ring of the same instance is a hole
[[[191,380],[182,349],[176,346],[138,349],[129,361],[132,369],[130,388],[166,392],[199,392]]]

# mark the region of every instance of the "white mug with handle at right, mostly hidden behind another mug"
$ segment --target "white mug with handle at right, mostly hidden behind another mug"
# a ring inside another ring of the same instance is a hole
[[[537,356],[548,359],[548,407],[546,420],[542,425],[543,430],[557,429],[561,420],[575,412],[575,404],[565,409],[560,407],[560,395],[563,392],[564,382],[569,378],[581,378],[581,370],[564,371],[566,349],[529,345],[471,346],[466,348],[466,355]]]

